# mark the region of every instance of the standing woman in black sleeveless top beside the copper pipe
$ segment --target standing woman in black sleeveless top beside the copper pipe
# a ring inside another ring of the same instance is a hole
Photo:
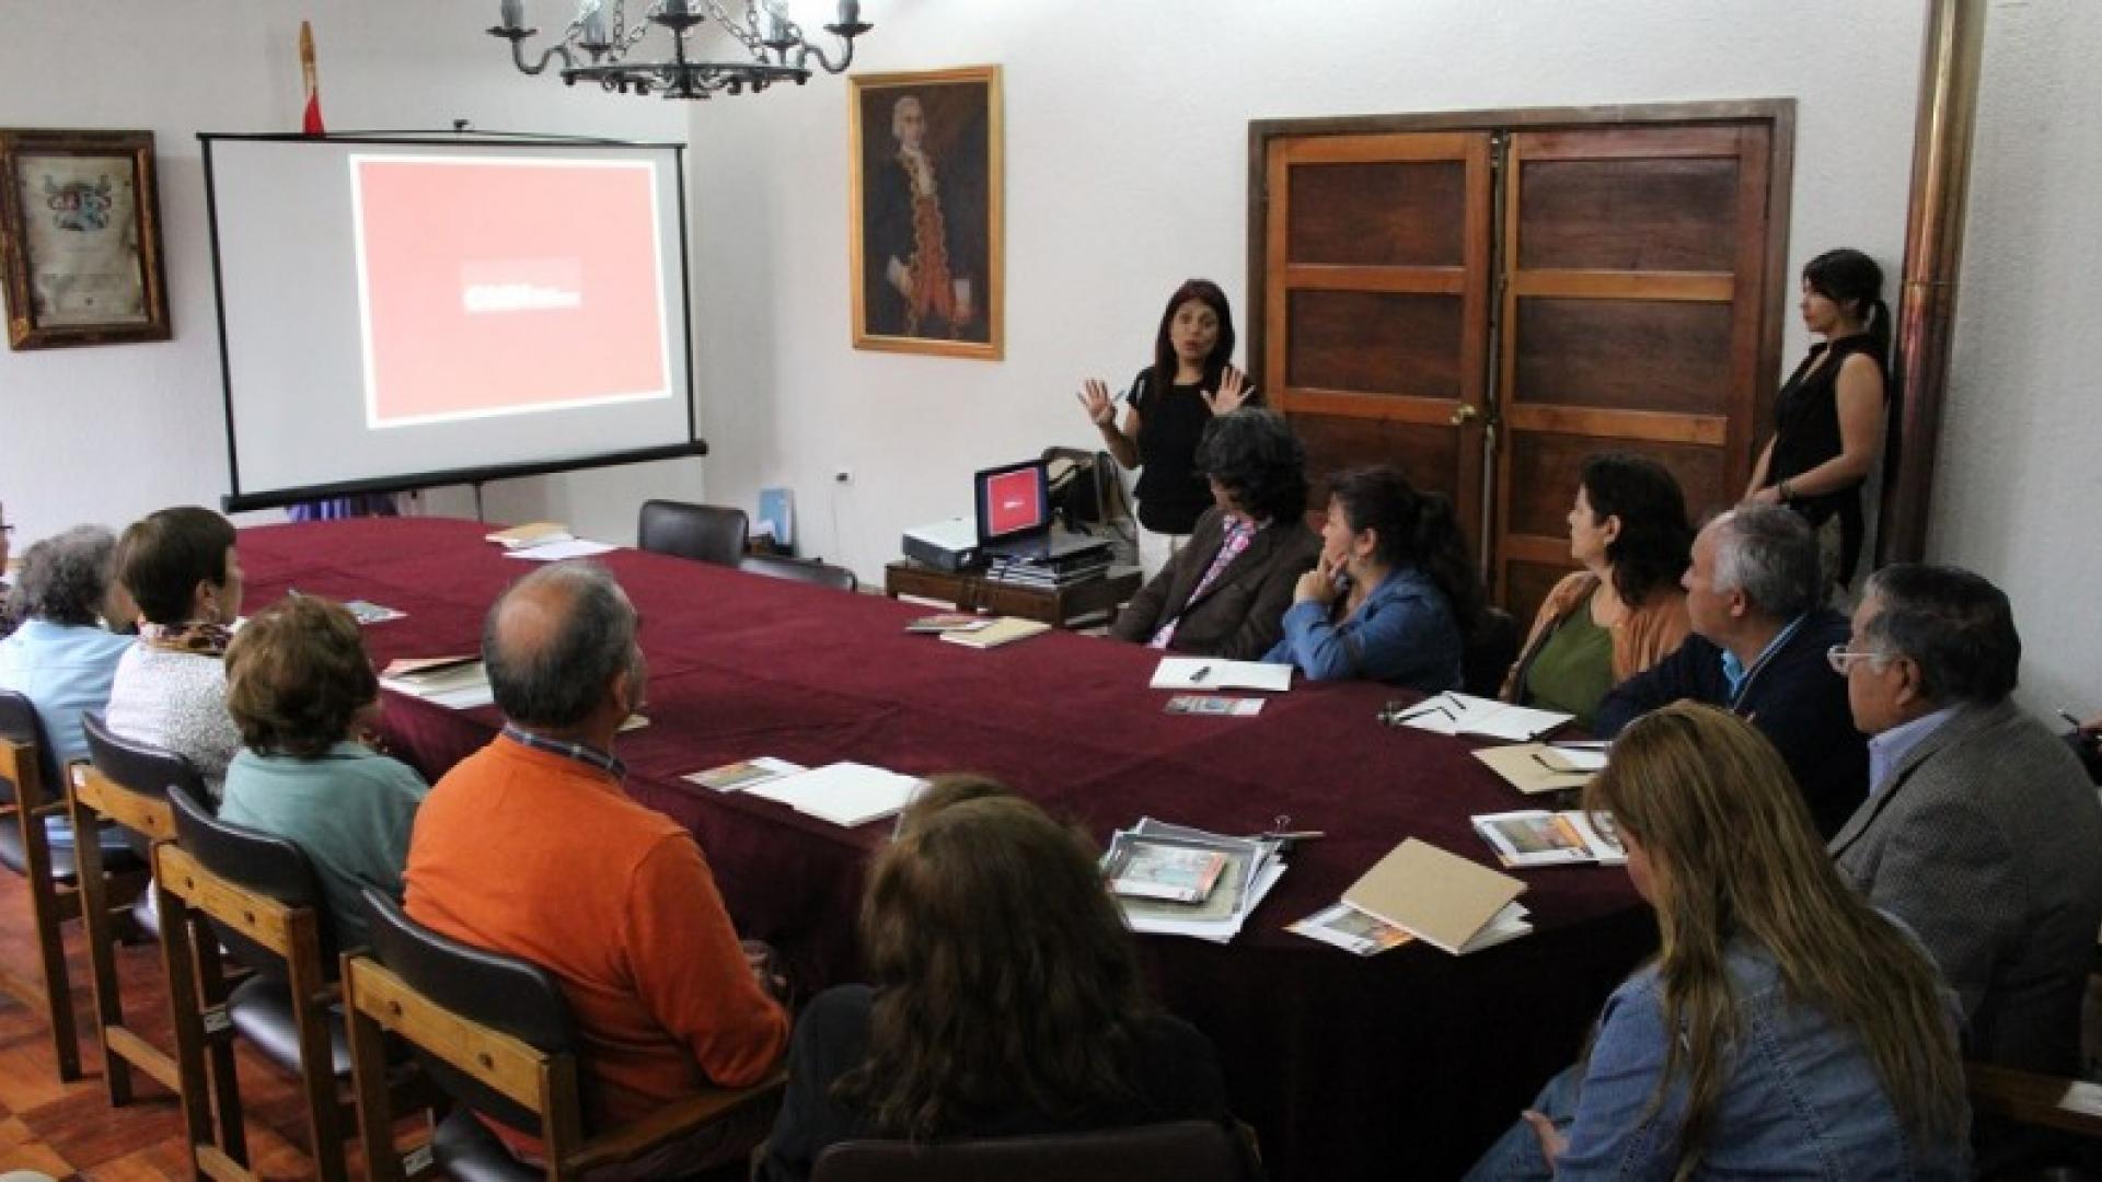
[[[1883,269],[1860,250],[1827,250],[1804,267],[1804,326],[1825,337],[1774,400],[1774,437],[1745,501],[1787,505],[1818,530],[1825,587],[1854,580],[1867,532],[1860,486],[1883,450],[1890,307]]]

